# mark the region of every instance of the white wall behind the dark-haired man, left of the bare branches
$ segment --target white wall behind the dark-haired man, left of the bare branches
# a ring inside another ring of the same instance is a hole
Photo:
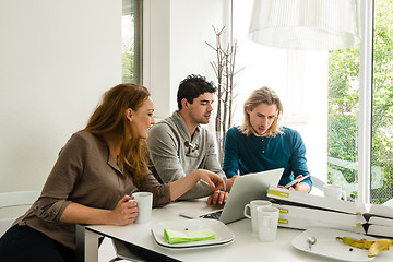
[[[215,80],[210,64],[215,52],[212,25],[222,28],[228,20],[226,0],[146,0],[144,26],[144,85],[151,88],[155,116],[165,118],[177,109],[181,80],[202,74]],[[215,81],[216,82],[216,81]]]

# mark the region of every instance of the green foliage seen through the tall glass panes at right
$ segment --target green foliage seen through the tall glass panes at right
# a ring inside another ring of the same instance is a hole
[[[371,202],[393,198],[393,1],[376,0],[372,86],[371,166],[381,168],[383,181],[371,190]],[[329,156],[357,162],[359,47],[330,52]],[[349,183],[357,171],[329,164]],[[329,175],[331,180],[331,175]],[[371,175],[371,181],[377,180]],[[354,192],[356,195],[357,192]]]

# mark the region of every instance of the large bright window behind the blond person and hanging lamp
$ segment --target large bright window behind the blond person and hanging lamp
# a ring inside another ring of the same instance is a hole
[[[361,201],[383,203],[393,196],[393,1],[358,2],[369,4],[367,12],[373,13],[373,26],[365,33],[373,39],[370,59],[364,58],[361,45],[327,52],[253,44],[246,19],[252,3],[234,0],[237,64],[246,67],[235,79],[241,90],[235,119],[241,123],[242,102],[252,90],[272,87],[284,104],[282,124],[303,138],[311,175],[341,184],[353,201],[364,194]],[[365,63],[368,70],[362,71]],[[361,72],[370,75],[371,84],[362,82]],[[365,96],[368,92],[371,95]]]

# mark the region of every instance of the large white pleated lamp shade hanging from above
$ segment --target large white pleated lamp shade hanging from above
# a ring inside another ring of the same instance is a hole
[[[254,0],[251,40],[293,50],[335,50],[357,45],[356,0]]]

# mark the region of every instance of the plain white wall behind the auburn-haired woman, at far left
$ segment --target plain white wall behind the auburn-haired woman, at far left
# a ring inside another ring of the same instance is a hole
[[[121,1],[2,0],[0,34],[0,192],[40,190],[121,82]]]

